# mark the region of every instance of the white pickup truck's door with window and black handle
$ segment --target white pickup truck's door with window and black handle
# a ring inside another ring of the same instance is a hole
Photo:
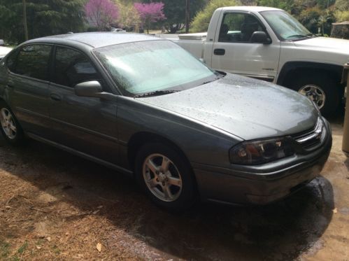
[[[251,42],[255,31],[269,36],[259,18],[251,13],[226,12],[220,21],[213,44],[213,69],[273,82],[278,72],[280,43]]]

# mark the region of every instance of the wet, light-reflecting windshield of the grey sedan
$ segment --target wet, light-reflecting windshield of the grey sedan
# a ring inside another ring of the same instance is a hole
[[[124,95],[145,97],[185,90],[218,78],[171,41],[122,43],[94,50]]]

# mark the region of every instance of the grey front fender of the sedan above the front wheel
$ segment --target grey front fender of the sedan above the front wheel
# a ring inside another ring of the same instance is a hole
[[[229,148],[241,141],[220,129],[129,97],[118,97],[117,129],[120,167],[124,168],[133,167],[128,165],[127,146],[131,137],[139,132],[148,132],[171,141],[185,152],[190,162],[210,162],[221,167],[229,167]],[[207,153],[208,150],[211,153]]]

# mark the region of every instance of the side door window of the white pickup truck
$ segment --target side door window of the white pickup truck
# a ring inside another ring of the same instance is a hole
[[[255,31],[265,31],[255,16],[245,13],[225,13],[218,41],[250,43],[250,38]]]

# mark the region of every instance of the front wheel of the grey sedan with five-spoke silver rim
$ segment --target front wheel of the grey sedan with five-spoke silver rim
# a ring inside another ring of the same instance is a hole
[[[185,211],[196,201],[191,167],[170,146],[163,143],[142,146],[136,155],[135,174],[152,202],[167,211]]]

